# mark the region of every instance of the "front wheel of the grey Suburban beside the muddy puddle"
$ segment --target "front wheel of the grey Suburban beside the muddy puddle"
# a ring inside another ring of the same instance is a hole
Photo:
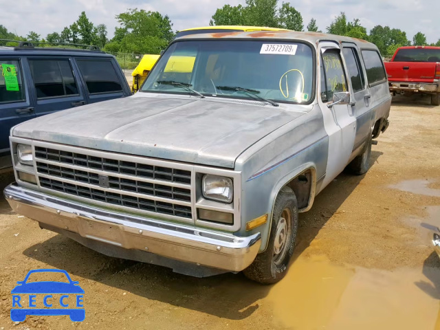
[[[294,252],[297,231],[296,196],[291,188],[284,187],[276,197],[267,248],[256,256],[252,265],[243,270],[245,276],[262,284],[280,281]]]

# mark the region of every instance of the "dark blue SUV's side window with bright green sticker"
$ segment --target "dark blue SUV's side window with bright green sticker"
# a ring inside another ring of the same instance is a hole
[[[19,61],[0,59],[0,103],[25,100]]]

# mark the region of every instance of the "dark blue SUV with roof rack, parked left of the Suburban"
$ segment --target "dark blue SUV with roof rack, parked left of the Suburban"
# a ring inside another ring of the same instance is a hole
[[[131,95],[114,56],[94,46],[0,46],[0,72],[0,170],[12,166],[13,126],[54,111]]]

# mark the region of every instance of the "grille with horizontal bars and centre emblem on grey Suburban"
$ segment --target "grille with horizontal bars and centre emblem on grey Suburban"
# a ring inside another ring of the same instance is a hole
[[[192,218],[190,170],[127,162],[114,154],[107,157],[36,146],[40,186],[126,208]],[[106,181],[108,177],[106,186],[100,186],[100,176]]]

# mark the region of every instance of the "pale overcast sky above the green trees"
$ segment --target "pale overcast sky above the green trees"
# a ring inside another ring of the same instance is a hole
[[[279,1],[280,3],[282,0]],[[107,25],[109,37],[113,36],[115,14],[127,8],[139,8],[168,14],[174,30],[208,25],[219,7],[244,4],[245,0],[0,0],[0,24],[8,30],[26,35],[35,31],[41,36],[61,32],[72,24],[80,12],[98,25]],[[418,31],[426,34],[428,43],[440,39],[440,0],[301,0],[290,1],[303,15],[307,26],[314,17],[320,30],[344,11],[349,20],[358,18],[367,30],[375,25],[389,25],[406,31],[408,39]]]

